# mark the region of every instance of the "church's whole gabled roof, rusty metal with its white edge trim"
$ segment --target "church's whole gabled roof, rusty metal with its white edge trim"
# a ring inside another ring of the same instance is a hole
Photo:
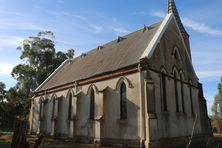
[[[180,30],[174,14],[170,13],[159,23],[137,30],[124,37],[119,37],[73,60],[66,60],[35,92],[62,86],[103,73],[113,72],[138,64],[141,59],[149,59],[152,57],[157,44],[160,42],[171,21],[174,21],[177,29]],[[181,39],[183,38],[181,33],[180,37]],[[183,40],[182,42],[186,49]],[[186,53],[189,57],[187,50]]]

